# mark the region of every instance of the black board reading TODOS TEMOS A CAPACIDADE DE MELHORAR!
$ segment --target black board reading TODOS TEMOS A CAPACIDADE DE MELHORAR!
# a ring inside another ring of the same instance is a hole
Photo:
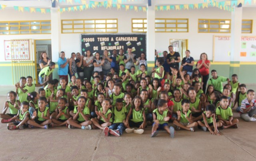
[[[114,49],[127,51],[128,47],[132,47],[132,53],[136,57],[142,52],[146,53],[146,34],[81,34],[81,53],[85,55],[87,50],[93,54],[99,52],[100,55],[107,49],[112,55]]]

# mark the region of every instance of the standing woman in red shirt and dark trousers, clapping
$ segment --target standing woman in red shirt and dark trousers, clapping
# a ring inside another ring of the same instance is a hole
[[[207,59],[207,54],[202,53],[200,55],[200,60],[197,62],[197,68],[199,69],[200,74],[203,76],[203,91],[205,93],[206,90],[206,84],[209,79],[209,69],[210,69],[211,63]]]

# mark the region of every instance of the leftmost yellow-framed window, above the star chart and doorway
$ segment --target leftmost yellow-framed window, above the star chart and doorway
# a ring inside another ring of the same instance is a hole
[[[0,35],[50,33],[51,20],[0,21]]]

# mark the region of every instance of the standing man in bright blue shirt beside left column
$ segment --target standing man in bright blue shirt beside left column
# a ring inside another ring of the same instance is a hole
[[[68,82],[68,70],[69,70],[69,58],[65,58],[65,52],[60,52],[60,56],[58,59],[58,75],[59,78],[65,78],[66,82]]]

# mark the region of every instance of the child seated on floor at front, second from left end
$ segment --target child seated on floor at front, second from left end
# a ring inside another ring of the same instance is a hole
[[[15,120],[16,122],[8,123],[8,130],[24,129],[26,127],[25,124],[29,120],[29,103],[27,101],[21,103],[21,108],[17,115],[11,118],[11,120]]]

